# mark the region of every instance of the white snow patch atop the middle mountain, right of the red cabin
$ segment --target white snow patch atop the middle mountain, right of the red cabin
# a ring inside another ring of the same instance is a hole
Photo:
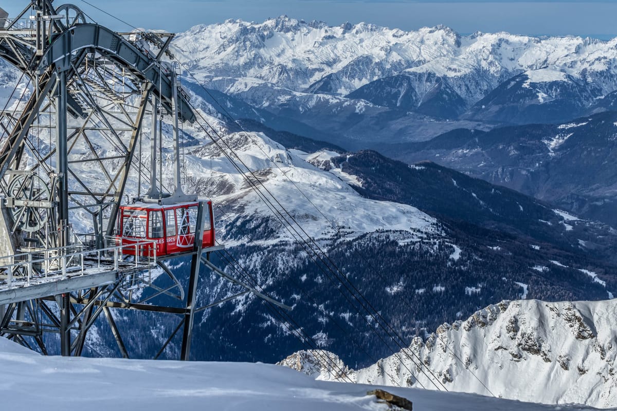
[[[304,160],[326,160],[331,153],[299,155],[299,152],[290,152],[259,133],[234,133],[223,139],[234,147],[236,154],[254,175],[258,176],[263,187],[273,193],[280,203],[275,203],[276,207],[280,210],[281,205],[284,206],[311,237],[329,237],[335,234],[339,227],[345,227],[347,237],[379,229],[414,229],[420,233],[437,233],[440,230],[436,219],[413,206],[361,197],[349,185],[354,184],[352,177],[355,176],[347,174],[344,181],[341,173],[328,173]],[[214,195],[213,201],[230,208],[231,214],[240,216],[241,219],[273,219],[268,206],[213,144],[194,150],[188,156],[187,163],[186,169],[190,176],[197,181],[205,180],[204,184],[198,184],[197,187],[230,187],[230,193]],[[230,246],[236,241],[251,240],[225,238],[225,226],[220,232],[225,243]],[[280,227],[278,237],[269,238],[267,241],[291,239],[291,234]]]

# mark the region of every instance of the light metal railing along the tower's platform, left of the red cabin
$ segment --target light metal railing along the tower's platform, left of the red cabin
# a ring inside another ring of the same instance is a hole
[[[117,238],[107,240],[113,242],[96,250],[70,245],[0,257],[0,287],[11,290],[28,287],[32,282],[59,281],[112,270],[119,274],[121,271],[147,271],[138,274],[138,280],[151,283],[150,271],[157,264],[155,241],[118,244]],[[126,254],[131,254],[132,260],[123,259]]]

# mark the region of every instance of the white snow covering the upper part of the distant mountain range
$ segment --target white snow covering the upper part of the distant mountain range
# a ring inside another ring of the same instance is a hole
[[[299,101],[309,110],[320,102],[342,101],[332,94],[345,96],[398,74],[418,79],[412,86],[418,96],[429,91],[428,76],[448,78],[468,104],[521,73],[529,87],[571,78],[598,84],[604,95],[617,88],[616,44],[617,39],[503,32],[462,36],[447,26],[416,31],[370,23],[328,26],[281,16],[194,26],[175,38],[173,49],[210,87],[261,107],[303,96]],[[328,95],[307,94],[323,80],[331,82],[322,92]],[[540,102],[547,97],[539,93]],[[362,111],[366,102],[357,101],[356,110]]]

